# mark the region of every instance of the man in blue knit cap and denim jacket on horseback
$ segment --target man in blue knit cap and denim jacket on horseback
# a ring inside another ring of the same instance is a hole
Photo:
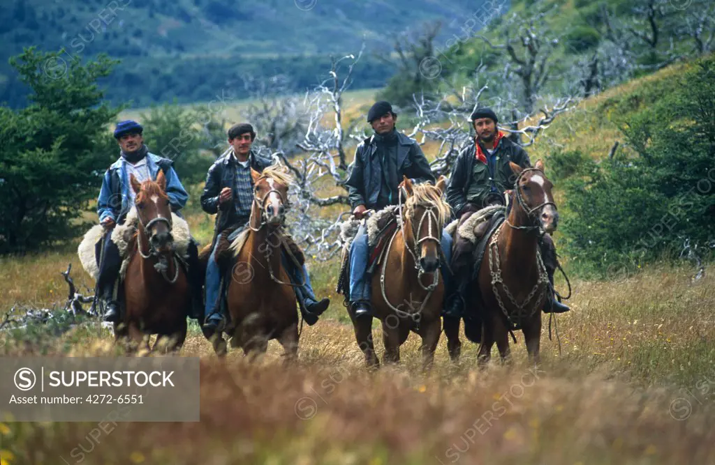
[[[129,176],[134,174],[140,183],[147,179],[156,181],[159,171],[164,171],[169,206],[172,212],[178,216],[182,216],[180,210],[189,199],[189,194],[172,167],[174,162],[152,154],[144,144],[143,133],[144,128],[136,121],[125,120],[117,124],[117,128],[114,130],[114,139],[117,139],[117,144],[120,147],[119,159],[109,166],[104,174],[102,189],[99,191],[97,201],[99,223],[107,231],[107,235],[104,236],[104,257],[99,264],[99,278],[97,279],[99,295],[104,301],[106,309],[103,319],[107,322],[119,321],[119,308],[117,301],[114,300],[114,284],[119,276],[122,257],[119,256],[117,244],[114,244],[110,237],[114,226],[124,224],[129,210],[134,206],[134,198],[137,194],[129,184]],[[187,252],[189,255],[188,274],[192,287],[193,314],[191,316],[199,318],[203,310],[203,279],[200,273],[199,251],[193,240],[189,241]]]

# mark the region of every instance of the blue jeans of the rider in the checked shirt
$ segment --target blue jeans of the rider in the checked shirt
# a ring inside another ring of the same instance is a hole
[[[219,270],[219,265],[216,263],[215,255],[218,242],[219,241],[216,241],[216,245],[211,251],[211,256],[209,256],[209,262],[206,266],[206,303],[204,304],[204,316],[209,317],[210,315],[211,317],[209,320],[213,321],[221,319],[221,312],[218,308],[221,291],[221,272]],[[313,292],[312,285],[310,284],[310,274],[308,274],[305,264],[302,266],[302,271],[299,271],[297,266],[295,266],[292,261],[287,259],[285,251],[282,250],[281,261],[292,284],[301,284],[303,276],[305,276],[305,285],[293,288],[298,301],[301,301],[304,306],[315,303],[315,293]],[[216,310],[215,313],[214,310]]]

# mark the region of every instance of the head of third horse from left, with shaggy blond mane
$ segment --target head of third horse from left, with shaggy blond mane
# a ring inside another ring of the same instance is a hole
[[[405,224],[409,222],[415,244],[415,258],[420,269],[432,273],[440,264],[442,229],[449,218],[449,205],[442,200],[445,177],[440,176],[437,184],[413,184],[403,176],[400,189],[407,194],[405,201]],[[408,246],[408,244],[405,244]]]

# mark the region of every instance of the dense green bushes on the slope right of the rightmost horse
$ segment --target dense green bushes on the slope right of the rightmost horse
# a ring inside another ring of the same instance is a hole
[[[606,99],[627,149],[600,162],[581,151],[551,157],[563,189],[566,253],[600,271],[631,269],[686,241],[704,249],[714,237],[715,56]]]

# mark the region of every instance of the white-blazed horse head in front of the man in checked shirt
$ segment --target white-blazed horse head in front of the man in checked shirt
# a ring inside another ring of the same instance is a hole
[[[253,209],[251,211],[252,223],[260,227],[267,224],[278,227],[285,221],[288,204],[288,186],[290,177],[283,171],[269,166],[262,173],[251,169],[253,179]]]

